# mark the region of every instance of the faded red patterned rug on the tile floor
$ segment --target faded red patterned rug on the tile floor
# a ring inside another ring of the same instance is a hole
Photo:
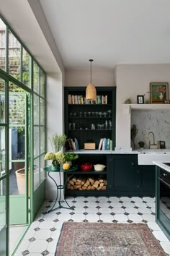
[[[55,256],[165,256],[143,223],[63,223]]]

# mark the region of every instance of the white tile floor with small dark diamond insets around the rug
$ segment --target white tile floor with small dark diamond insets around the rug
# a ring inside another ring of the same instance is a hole
[[[66,199],[74,210],[61,208],[47,213],[53,205],[53,200],[43,203],[14,256],[54,255],[64,221],[146,223],[166,254],[170,255],[170,242],[155,222],[155,198],[67,197]]]

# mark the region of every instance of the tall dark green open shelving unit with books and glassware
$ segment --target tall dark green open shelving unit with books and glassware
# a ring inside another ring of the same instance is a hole
[[[79,148],[84,149],[84,142],[93,140],[98,149],[101,138],[112,140],[115,148],[115,122],[116,122],[116,88],[96,87],[97,95],[107,95],[107,104],[68,104],[68,95],[84,95],[85,87],[66,87],[65,91],[65,133],[67,137],[76,137]],[[109,112],[110,111],[110,116]],[[90,112],[90,114],[89,114]],[[105,122],[107,121],[107,126]],[[109,127],[109,121],[112,127]],[[70,124],[70,126],[69,126]],[[75,127],[73,128],[73,124]],[[91,129],[94,124],[95,129]],[[69,150],[69,148],[67,148]]]

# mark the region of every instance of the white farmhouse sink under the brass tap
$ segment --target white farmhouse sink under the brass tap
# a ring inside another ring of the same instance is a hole
[[[138,150],[138,164],[153,166],[153,161],[170,161],[170,150]]]

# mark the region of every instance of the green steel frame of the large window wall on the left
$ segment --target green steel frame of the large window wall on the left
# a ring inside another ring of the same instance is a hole
[[[9,26],[9,24],[6,22],[6,20],[4,19],[4,17],[0,14],[0,19],[4,22],[4,24],[6,25],[6,58],[5,58],[5,71],[0,69],[0,77],[1,79],[4,79],[4,81],[6,82],[6,87],[5,87],[5,108],[8,110],[9,109],[9,82],[13,82],[15,85],[17,85],[19,88],[22,88],[23,90],[25,90],[26,92],[30,93],[30,137],[33,138],[33,129],[34,129],[34,120],[33,120],[33,106],[34,106],[34,94],[36,94],[39,97],[39,129],[40,127],[44,127],[45,128],[45,151],[46,151],[46,145],[47,145],[47,139],[46,139],[46,135],[47,135],[47,128],[46,128],[46,73],[44,71],[44,69],[42,69],[42,67],[40,66],[40,64],[36,61],[36,59],[32,56],[32,54],[30,53],[29,49],[27,48],[27,46],[24,45],[24,43],[22,43],[22,40],[20,40],[19,36],[14,32],[14,30],[12,29],[12,27]],[[21,51],[20,51],[20,80],[15,79],[14,77],[12,77],[9,74],[9,30],[11,31],[11,33],[15,36],[15,38],[17,38],[17,40],[20,43],[21,46]],[[30,64],[30,87],[28,87],[27,85],[24,85],[22,83],[22,51],[23,48],[25,49],[25,51],[27,51],[28,54],[30,54],[30,59],[31,59],[31,64]],[[34,92],[34,88],[33,88],[33,61],[35,61],[39,67],[39,90],[38,93]],[[42,95],[40,95],[40,69],[43,72],[44,76],[45,76],[45,84],[44,84],[44,97],[42,97]],[[45,103],[45,121],[44,121],[44,125],[41,125],[40,123],[40,98],[42,98],[44,100]],[[6,170],[9,170],[9,113],[8,111],[6,111],[5,114],[5,120],[7,121],[7,123],[3,123],[0,124],[0,127],[5,127],[5,145],[6,145],[6,155],[5,155],[5,159],[6,159]],[[40,155],[38,155],[37,157],[39,157],[41,159],[42,155],[45,155],[45,151],[43,153],[40,153]],[[33,164],[34,164],[34,155],[33,155],[33,142],[32,140],[30,140],[30,163],[31,163],[31,168],[33,170]],[[39,152],[40,152],[40,143],[39,143]],[[40,163],[40,160],[39,160]],[[40,166],[40,165],[39,165]],[[40,175],[40,171],[39,171],[39,175]],[[9,179],[7,179],[9,177],[9,171],[7,171],[7,173],[1,177],[1,179],[6,179],[6,209],[9,209]],[[1,180],[0,179],[0,180]],[[33,184],[34,184],[34,177],[32,175],[32,173],[30,174],[30,179],[32,180],[31,182],[31,198],[32,198],[32,192],[34,191],[33,189]],[[40,176],[39,176],[40,179]],[[40,184],[39,184],[40,185]],[[32,200],[31,200],[31,208],[32,208]],[[31,212],[32,213],[32,212]],[[32,214],[30,216],[30,220],[32,222]],[[6,226],[8,226],[7,228],[7,239],[9,241],[9,212],[6,211]],[[6,252],[7,255],[9,255],[9,248],[7,246],[6,248]]]

